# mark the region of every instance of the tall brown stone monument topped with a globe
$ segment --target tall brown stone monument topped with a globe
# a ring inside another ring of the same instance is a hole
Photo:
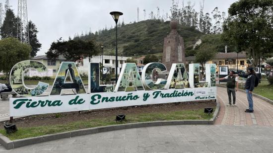
[[[162,63],[167,71],[171,70],[173,63],[184,63],[186,66],[184,40],[177,32],[177,24],[177,21],[170,22],[171,32],[164,38]]]

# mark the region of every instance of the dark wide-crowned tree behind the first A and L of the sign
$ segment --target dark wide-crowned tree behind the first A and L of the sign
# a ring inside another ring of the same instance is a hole
[[[81,58],[92,58],[92,56],[98,55],[98,46],[94,41],[83,40],[62,40],[60,38],[57,42],[53,42],[49,51],[46,53],[50,59],[57,59],[60,55],[63,55],[68,61],[77,61]]]

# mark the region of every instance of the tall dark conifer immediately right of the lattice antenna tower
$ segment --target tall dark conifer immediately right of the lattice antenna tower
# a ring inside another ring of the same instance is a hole
[[[36,25],[32,21],[28,22],[28,30],[29,30],[29,45],[32,48],[30,52],[30,56],[35,57],[37,52],[40,51],[40,48],[42,47],[42,44],[40,44],[37,38],[37,33],[39,31],[37,30]]]

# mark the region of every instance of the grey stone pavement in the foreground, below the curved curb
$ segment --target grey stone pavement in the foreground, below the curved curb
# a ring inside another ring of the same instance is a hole
[[[8,153],[273,153],[273,128],[180,125],[103,132]],[[7,151],[0,146],[0,153]]]

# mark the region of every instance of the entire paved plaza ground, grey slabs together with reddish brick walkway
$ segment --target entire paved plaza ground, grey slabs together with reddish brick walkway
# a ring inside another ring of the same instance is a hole
[[[9,151],[0,146],[0,153],[273,153],[273,105],[254,97],[254,113],[245,113],[246,93],[236,94],[238,106],[226,106],[226,88],[217,88],[221,108],[214,125],[119,130]],[[0,120],[8,115],[7,101],[0,101],[0,112]]]

